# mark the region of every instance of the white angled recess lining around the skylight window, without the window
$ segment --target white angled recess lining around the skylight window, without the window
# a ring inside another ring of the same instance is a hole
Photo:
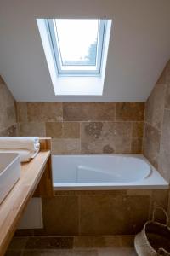
[[[102,96],[105,84],[105,71],[110,38],[112,39],[112,20],[105,20],[105,41],[100,74],[59,74],[54,58],[53,44],[47,26],[47,19],[37,19],[37,27],[42,41],[55,96]]]

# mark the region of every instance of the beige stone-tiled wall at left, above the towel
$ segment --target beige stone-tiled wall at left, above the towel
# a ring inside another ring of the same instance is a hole
[[[15,136],[16,131],[14,97],[0,76],[0,136]]]

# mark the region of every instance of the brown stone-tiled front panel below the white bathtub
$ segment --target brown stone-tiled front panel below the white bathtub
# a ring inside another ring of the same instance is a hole
[[[55,191],[42,198],[42,230],[17,235],[112,236],[136,234],[155,205],[167,209],[167,190]]]

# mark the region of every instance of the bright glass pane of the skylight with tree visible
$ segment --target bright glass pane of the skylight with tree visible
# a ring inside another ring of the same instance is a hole
[[[55,20],[62,66],[96,66],[99,20]]]

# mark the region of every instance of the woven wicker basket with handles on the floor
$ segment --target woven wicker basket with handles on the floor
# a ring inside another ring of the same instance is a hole
[[[156,222],[156,211],[164,212],[166,224]],[[144,224],[143,230],[135,236],[134,247],[139,256],[170,256],[170,228],[168,227],[167,212],[156,207],[152,220]]]

